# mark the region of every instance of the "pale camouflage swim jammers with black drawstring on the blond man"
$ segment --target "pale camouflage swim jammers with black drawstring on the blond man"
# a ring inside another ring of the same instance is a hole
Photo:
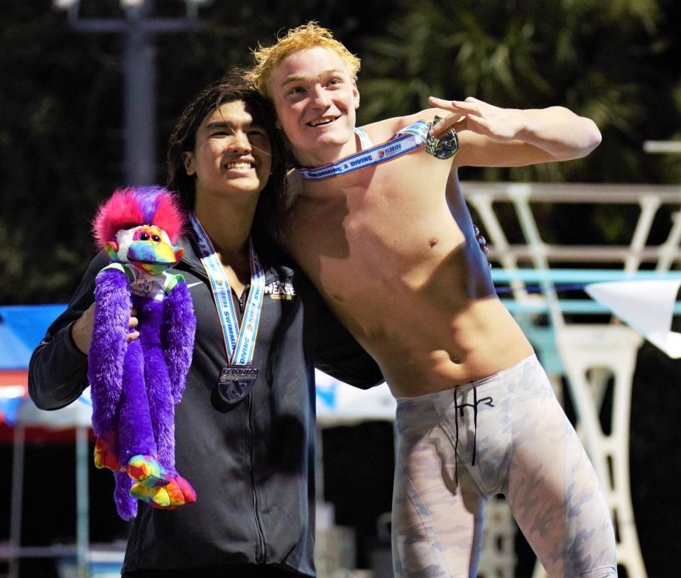
[[[506,496],[550,577],[616,577],[599,481],[535,356],[452,390],[398,398],[397,423],[397,578],[475,577],[494,494]]]

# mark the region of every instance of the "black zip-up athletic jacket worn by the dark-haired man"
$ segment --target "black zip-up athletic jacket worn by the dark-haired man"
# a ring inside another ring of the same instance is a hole
[[[229,408],[215,393],[227,356],[207,276],[192,244],[182,245],[175,271],[192,295],[197,332],[175,408],[175,452],[197,501],[175,511],[140,503],[124,572],[256,563],[314,575],[315,365],[361,388],[383,377],[303,273],[272,266],[254,356],[258,379]],[[94,278],[108,261],[101,253],[90,263],[33,353],[28,388],[39,408],[62,408],[87,386],[87,357],[72,342],[70,325],[92,304]]]

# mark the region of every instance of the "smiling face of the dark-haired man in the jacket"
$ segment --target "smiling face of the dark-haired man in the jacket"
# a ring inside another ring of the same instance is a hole
[[[208,195],[255,196],[271,173],[266,130],[242,100],[222,104],[202,121],[193,151],[182,153],[187,175],[195,175],[197,200]]]

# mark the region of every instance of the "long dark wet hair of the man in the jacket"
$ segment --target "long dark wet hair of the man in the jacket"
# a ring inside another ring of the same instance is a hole
[[[276,114],[268,100],[243,80],[242,70],[233,70],[217,82],[200,91],[187,104],[170,133],[166,151],[168,180],[166,187],[175,191],[182,209],[194,210],[196,201],[195,175],[187,175],[183,153],[192,152],[196,146],[196,133],[205,118],[219,110],[223,104],[242,101],[254,120],[265,129],[270,141],[272,173],[260,193],[251,227],[258,256],[268,261],[273,240],[277,238],[279,217],[286,191],[286,170],[289,158],[282,133],[276,127]]]

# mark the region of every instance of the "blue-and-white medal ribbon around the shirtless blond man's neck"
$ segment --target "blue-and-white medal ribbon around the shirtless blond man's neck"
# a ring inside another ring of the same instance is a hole
[[[430,123],[416,121],[414,124],[410,124],[405,129],[395,133],[389,141],[367,148],[366,151],[354,153],[323,167],[298,168],[296,170],[305,180],[325,180],[354,173],[354,171],[363,168],[380,165],[388,160],[393,160],[393,158],[411,153],[420,146],[423,146],[427,140],[429,129]]]

